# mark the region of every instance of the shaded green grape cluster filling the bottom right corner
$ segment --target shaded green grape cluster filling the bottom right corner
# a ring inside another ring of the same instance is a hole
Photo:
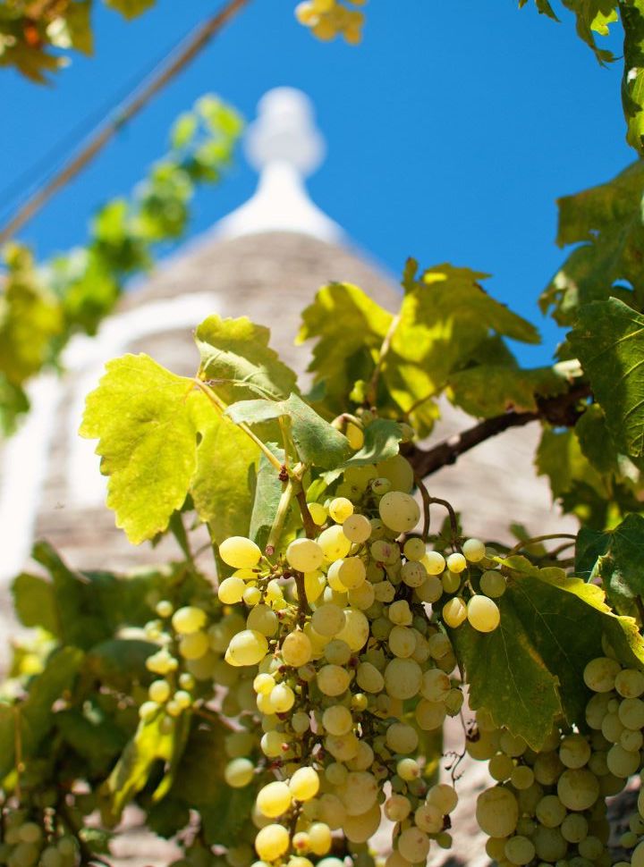
[[[497,780],[479,795],[477,821],[489,836],[487,854],[501,867],[612,863],[606,798],[619,794],[640,772],[644,674],[604,656],[588,663],[584,681],[595,692],[586,707],[587,728],[555,726],[539,752],[496,728],[486,711],[477,714],[467,751],[487,761]],[[644,795],[629,828],[622,846],[634,849],[630,863],[643,867]]]

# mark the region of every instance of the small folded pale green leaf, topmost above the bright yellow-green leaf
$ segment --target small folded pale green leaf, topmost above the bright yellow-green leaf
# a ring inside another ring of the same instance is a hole
[[[245,316],[208,316],[195,332],[200,377],[208,380],[226,403],[258,396],[286,398],[296,389],[296,375],[268,347],[269,336],[267,328]]]

